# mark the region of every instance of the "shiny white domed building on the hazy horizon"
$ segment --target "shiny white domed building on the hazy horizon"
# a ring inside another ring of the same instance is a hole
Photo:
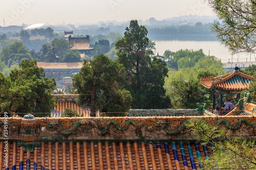
[[[52,28],[55,32],[57,31],[72,31],[72,28],[63,23],[56,22],[46,22],[46,23],[35,23],[26,27],[24,30],[34,30],[34,29],[47,29],[48,27]]]

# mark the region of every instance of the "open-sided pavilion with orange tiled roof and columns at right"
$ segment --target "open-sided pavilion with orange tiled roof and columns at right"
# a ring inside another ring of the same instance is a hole
[[[214,92],[212,101],[213,108],[215,108],[216,105],[216,95],[220,96],[220,106],[222,106],[224,96],[240,96],[244,89],[249,88],[252,81],[255,81],[255,78],[243,74],[239,71],[238,67],[229,74],[218,77],[201,78],[200,80],[204,87],[210,88]]]

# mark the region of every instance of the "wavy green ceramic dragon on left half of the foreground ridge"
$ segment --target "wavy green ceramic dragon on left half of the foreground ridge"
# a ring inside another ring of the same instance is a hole
[[[133,120],[128,120],[128,121],[125,122],[125,125],[123,127],[120,127],[115,120],[109,120],[105,124],[105,128],[104,129],[100,129],[94,120],[91,120],[91,119],[81,119],[81,120],[78,120],[77,122],[75,122],[75,124],[71,128],[69,128],[67,130],[62,130],[62,123],[61,122],[51,122],[47,126],[50,129],[56,129],[58,134],[67,136],[67,135],[75,133],[75,131],[80,126],[82,126],[82,125],[90,125],[90,126],[92,126],[96,130],[96,132],[98,134],[103,135],[103,134],[108,133],[110,125],[114,125],[115,128],[117,130],[119,130],[119,131],[125,131],[125,130],[127,130],[129,128],[130,124],[132,124],[132,125],[134,125],[136,127],[139,127],[139,126],[141,126],[141,124],[143,124],[143,122],[140,122],[139,124],[135,124],[135,122],[133,122]]]

